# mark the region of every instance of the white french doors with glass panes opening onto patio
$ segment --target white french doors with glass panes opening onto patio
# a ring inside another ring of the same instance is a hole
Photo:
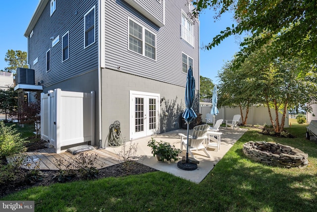
[[[130,140],[159,132],[159,94],[130,91]]]

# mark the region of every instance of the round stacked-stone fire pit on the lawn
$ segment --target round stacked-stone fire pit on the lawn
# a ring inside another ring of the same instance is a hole
[[[270,166],[291,168],[308,165],[307,153],[280,143],[249,141],[243,144],[242,151],[250,159]]]

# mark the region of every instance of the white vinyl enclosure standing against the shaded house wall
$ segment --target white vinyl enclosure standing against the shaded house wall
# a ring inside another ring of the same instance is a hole
[[[62,146],[90,141],[95,144],[95,91],[50,90],[41,93],[41,139],[56,153]]]

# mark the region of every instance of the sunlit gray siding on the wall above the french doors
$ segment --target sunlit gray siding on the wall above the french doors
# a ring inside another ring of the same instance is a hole
[[[149,8],[148,1],[138,0]],[[165,25],[158,27],[124,0],[109,0],[105,8],[105,67],[146,78],[185,86],[182,52],[193,59],[196,89],[199,87],[199,23],[194,24],[194,48],[181,38],[182,9],[188,12],[188,0],[165,1]],[[154,12],[154,11],[153,11]],[[128,50],[128,18],[157,36],[156,61]],[[120,67],[118,69],[117,67]]]

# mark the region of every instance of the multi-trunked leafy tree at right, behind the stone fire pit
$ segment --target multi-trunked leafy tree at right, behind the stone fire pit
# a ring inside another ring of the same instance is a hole
[[[315,103],[317,99],[317,74],[313,69],[303,72],[300,59],[276,59],[262,73],[258,74],[259,87],[263,89],[265,105],[268,108],[271,124],[276,133],[284,129],[287,109],[307,102]],[[275,120],[269,108],[275,110]],[[278,112],[282,113],[281,123]]]

